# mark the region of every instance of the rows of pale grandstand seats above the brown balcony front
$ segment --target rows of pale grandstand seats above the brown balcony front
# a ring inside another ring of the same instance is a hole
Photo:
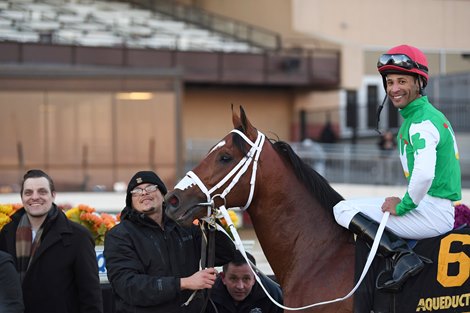
[[[229,36],[126,2],[0,2],[0,40],[59,45],[259,53]]]

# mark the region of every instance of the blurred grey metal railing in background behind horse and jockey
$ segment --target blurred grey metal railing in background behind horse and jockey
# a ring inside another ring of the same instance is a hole
[[[216,143],[211,140],[189,140],[186,145],[185,170],[202,160]],[[330,183],[406,185],[397,151],[380,150],[374,144],[314,141],[290,143],[294,151]],[[462,187],[470,187],[469,160],[461,160]]]

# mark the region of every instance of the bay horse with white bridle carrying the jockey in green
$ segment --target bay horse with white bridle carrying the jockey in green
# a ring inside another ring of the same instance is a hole
[[[265,140],[242,107],[240,115],[232,107],[232,121],[234,130],[165,196],[167,216],[189,225],[207,215],[208,201],[246,209],[282,287],[285,306],[297,308],[345,296],[357,279],[355,263],[363,262],[357,260],[356,246],[359,251],[367,247],[360,240],[355,244],[352,232],[334,219],[332,208],[343,197],[287,143]],[[465,255],[461,257],[465,261]],[[382,266],[374,262],[373,267]],[[370,276],[367,280],[372,281]],[[468,281],[463,286],[467,292]],[[360,301],[355,296],[355,312],[407,311],[391,308],[395,295],[377,291],[374,295],[371,289],[358,290],[362,296]],[[353,300],[302,312],[350,313]]]

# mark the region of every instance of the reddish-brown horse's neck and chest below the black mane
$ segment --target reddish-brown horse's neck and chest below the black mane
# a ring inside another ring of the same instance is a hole
[[[285,303],[306,304],[344,296],[354,275],[351,233],[336,223],[333,208],[323,207],[277,153],[263,151],[260,161],[248,213],[283,288]],[[333,190],[321,189],[316,192],[339,199]]]

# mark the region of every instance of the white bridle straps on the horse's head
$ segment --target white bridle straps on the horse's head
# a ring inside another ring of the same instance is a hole
[[[250,194],[248,195],[248,199],[246,204],[241,210],[246,210],[253,199],[253,194],[255,192],[255,184],[256,184],[256,170],[258,169],[258,160],[263,149],[263,144],[265,141],[266,136],[258,131],[258,137],[256,138],[255,142],[251,141],[244,133],[239,131],[238,129],[233,129],[231,133],[236,133],[241,136],[250,146],[250,150],[248,153],[238,162],[238,164],[224,177],[222,178],[217,184],[215,184],[211,189],[208,189],[201,179],[193,172],[189,171],[186,173],[186,176],[175,186],[175,189],[185,190],[190,188],[194,185],[197,185],[199,189],[206,195],[207,202],[199,203],[201,206],[207,206],[207,216],[212,214],[211,210],[214,208],[214,199],[219,197],[224,201],[225,205],[225,197],[229,194],[232,188],[238,183],[240,178],[243,174],[246,173],[250,164],[253,162],[253,169],[251,171],[251,179],[250,179]],[[224,189],[222,193],[215,194],[215,192],[221,188],[224,184],[226,184],[229,179],[232,180],[228,184],[228,186]]]

